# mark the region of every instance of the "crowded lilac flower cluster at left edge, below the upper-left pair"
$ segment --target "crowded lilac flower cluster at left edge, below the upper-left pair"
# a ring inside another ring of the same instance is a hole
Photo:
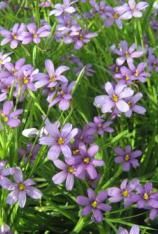
[[[13,96],[22,101],[26,90],[36,91],[34,75],[37,73],[38,69],[34,69],[31,64],[25,64],[24,58],[15,63],[6,62],[0,71],[2,97],[7,97],[7,94],[12,90]]]

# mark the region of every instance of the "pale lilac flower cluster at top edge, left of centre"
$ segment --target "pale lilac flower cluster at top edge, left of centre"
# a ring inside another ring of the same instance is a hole
[[[73,43],[74,48],[79,50],[91,38],[96,37],[97,33],[81,28],[76,20],[80,18],[80,15],[77,15],[73,4],[74,2],[70,2],[70,0],[63,0],[63,4],[55,4],[54,10],[50,11],[50,15],[55,15],[58,20],[56,40],[63,40],[66,44]]]

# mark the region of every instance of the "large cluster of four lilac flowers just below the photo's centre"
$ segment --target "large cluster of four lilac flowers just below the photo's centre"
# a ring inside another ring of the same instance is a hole
[[[96,167],[103,166],[104,162],[95,158],[99,151],[97,145],[92,144],[87,148],[84,143],[81,144],[77,140],[78,129],[72,129],[69,123],[65,124],[62,129],[59,127],[59,123],[47,122],[45,129],[49,135],[42,136],[39,142],[50,147],[48,159],[61,170],[53,176],[53,182],[61,184],[66,180],[67,190],[72,190],[75,177],[81,180],[87,177],[91,180],[96,179],[98,177]],[[72,144],[71,141],[75,137],[75,142]],[[64,162],[58,159],[61,153],[64,156]]]

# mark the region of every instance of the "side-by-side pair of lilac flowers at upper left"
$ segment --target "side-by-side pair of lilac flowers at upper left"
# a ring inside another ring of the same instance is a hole
[[[9,43],[10,47],[15,49],[19,44],[29,44],[31,42],[38,44],[41,38],[49,36],[50,29],[48,24],[37,28],[35,23],[27,25],[24,23],[16,23],[10,30],[0,30],[0,35],[4,37],[1,41],[1,46]]]

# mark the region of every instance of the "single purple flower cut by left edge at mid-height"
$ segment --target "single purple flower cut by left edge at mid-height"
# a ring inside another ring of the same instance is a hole
[[[23,110],[18,109],[16,111],[12,111],[12,109],[13,109],[13,102],[6,101],[3,104],[3,109],[0,110],[0,116],[5,124],[7,124],[12,128],[15,128],[21,123],[21,121],[18,119],[18,116],[23,112]]]

